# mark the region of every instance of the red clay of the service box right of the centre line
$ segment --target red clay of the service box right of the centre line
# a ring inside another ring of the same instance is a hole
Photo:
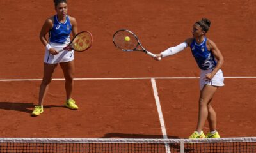
[[[198,80],[159,80],[157,83],[168,135],[179,133],[178,136],[188,137],[195,129],[198,117]],[[182,89],[184,84],[189,88]],[[255,87],[255,79],[225,79],[225,85],[218,89],[212,99],[220,135],[255,136],[255,90],[248,89],[251,85]],[[209,131],[207,124],[204,131]]]

